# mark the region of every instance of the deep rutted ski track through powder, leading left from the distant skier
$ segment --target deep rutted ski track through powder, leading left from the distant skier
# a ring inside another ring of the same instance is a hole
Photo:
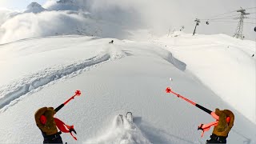
[[[0,87],[0,113],[6,111],[10,106],[20,101],[26,94],[34,93],[41,90],[48,84],[53,84],[58,79],[72,78],[82,71],[90,70],[94,66],[98,66],[109,60],[115,60],[124,57],[126,54],[120,50],[110,48],[105,53],[98,54],[93,58],[86,59],[82,62],[74,62],[69,66],[57,66],[56,68],[47,68],[36,74],[22,78],[8,86]]]

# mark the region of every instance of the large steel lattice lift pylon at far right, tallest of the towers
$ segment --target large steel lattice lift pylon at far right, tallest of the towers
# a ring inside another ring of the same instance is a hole
[[[244,36],[242,35],[243,19],[246,18],[245,15],[248,15],[249,13],[246,13],[246,10],[242,9],[242,7],[240,10],[237,10],[237,12],[240,13],[240,16],[238,18],[234,18],[234,19],[239,19],[239,22],[238,22],[237,30],[235,31],[233,37],[243,39],[244,38]]]

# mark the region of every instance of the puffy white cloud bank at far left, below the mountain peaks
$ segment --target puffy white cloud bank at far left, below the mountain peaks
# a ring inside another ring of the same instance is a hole
[[[64,11],[19,14],[2,24],[0,30],[4,31],[4,34],[2,34],[1,43],[22,38],[75,34],[83,20],[78,14],[68,14]]]

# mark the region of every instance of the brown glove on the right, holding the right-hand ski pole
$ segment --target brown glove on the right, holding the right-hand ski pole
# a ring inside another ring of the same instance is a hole
[[[218,125],[214,126],[213,134],[217,136],[227,137],[231,128],[234,126],[234,114],[230,110],[215,110],[215,114],[219,116]],[[230,117],[230,122],[226,122],[226,118]]]

